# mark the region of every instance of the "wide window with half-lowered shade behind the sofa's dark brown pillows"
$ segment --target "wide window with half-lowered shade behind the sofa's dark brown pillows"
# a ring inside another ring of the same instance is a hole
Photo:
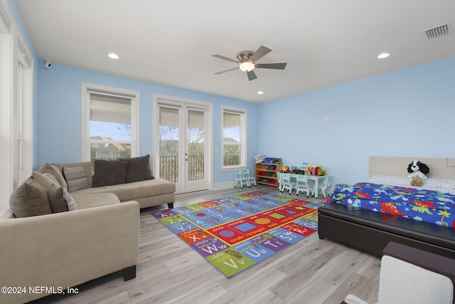
[[[139,156],[139,92],[83,84],[82,96],[82,160]]]

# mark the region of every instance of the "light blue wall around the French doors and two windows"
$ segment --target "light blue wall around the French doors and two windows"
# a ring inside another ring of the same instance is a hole
[[[41,65],[42,66],[42,65]],[[41,68],[41,132],[39,137],[39,161],[35,167],[44,162],[80,162],[81,160],[81,83],[95,83],[127,90],[137,90],[141,94],[141,155],[152,153],[152,103],[153,94],[171,95],[177,98],[188,98],[213,103],[213,182],[230,182],[232,171],[221,171],[221,106],[230,105],[246,108],[249,168],[254,169],[253,157],[257,154],[258,121],[256,103],[223,98],[215,95],[197,93],[190,90],[172,88],[129,78],[122,78],[90,70],[71,68],[53,63],[49,69]],[[251,159],[251,160],[250,160]],[[36,168],[35,168],[36,169]]]

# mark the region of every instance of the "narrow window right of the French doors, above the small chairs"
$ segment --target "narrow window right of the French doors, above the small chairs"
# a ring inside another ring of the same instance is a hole
[[[247,110],[222,108],[223,169],[247,166]]]

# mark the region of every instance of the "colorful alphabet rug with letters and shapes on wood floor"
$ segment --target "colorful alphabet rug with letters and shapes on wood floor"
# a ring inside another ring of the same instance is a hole
[[[230,278],[316,232],[317,207],[250,192],[151,215]]]

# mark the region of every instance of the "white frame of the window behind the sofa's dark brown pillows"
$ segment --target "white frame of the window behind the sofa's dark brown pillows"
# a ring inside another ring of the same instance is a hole
[[[140,154],[140,93],[135,90],[82,83],[81,90],[81,161],[90,162],[90,93],[131,98],[131,157]],[[109,141],[111,142],[111,141]],[[113,143],[117,142],[112,140]],[[124,142],[124,141],[122,141]]]

